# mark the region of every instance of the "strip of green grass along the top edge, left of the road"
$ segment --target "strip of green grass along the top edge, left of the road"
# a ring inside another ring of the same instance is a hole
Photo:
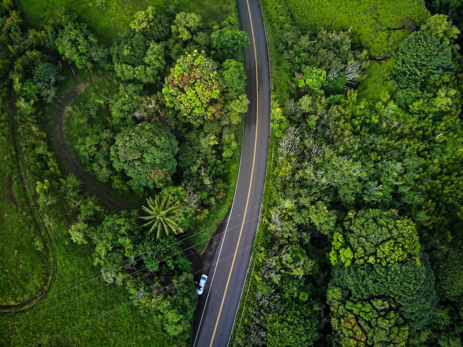
[[[229,1],[226,1],[229,2]],[[26,23],[40,29],[44,19],[53,16],[57,8],[75,12],[78,20],[87,24],[88,28],[106,45],[111,46],[117,34],[129,28],[129,23],[137,11],[148,6],[156,9],[176,9],[202,15],[208,25],[220,25],[227,20],[224,17],[223,0],[18,0],[16,1]],[[95,4],[105,5],[97,8]]]

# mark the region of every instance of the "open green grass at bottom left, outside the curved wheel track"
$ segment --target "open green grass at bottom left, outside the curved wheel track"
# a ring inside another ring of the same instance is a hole
[[[140,314],[129,303],[125,285],[117,287],[98,278],[71,289],[100,276],[99,269],[92,265],[92,247],[73,243],[61,227],[54,227],[51,236],[58,264],[53,288],[47,299],[27,312],[2,318],[2,325],[12,324],[0,332],[8,345],[27,346],[83,323],[43,346],[174,346],[174,339],[158,319]],[[65,290],[69,291],[57,295]],[[112,309],[118,310],[104,315]],[[99,315],[104,316],[85,323]]]

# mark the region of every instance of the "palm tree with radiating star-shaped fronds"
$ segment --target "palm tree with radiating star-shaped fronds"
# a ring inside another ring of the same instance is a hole
[[[180,206],[177,203],[172,203],[170,199],[163,198],[156,195],[156,198],[153,199],[150,197],[146,199],[148,202],[148,207],[142,206],[144,211],[148,213],[147,216],[139,217],[144,221],[148,221],[143,227],[148,227],[151,224],[148,234],[153,230],[157,230],[156,238],[159,239],[163,232],[169,236],[169,233],[183,233],[183,229],[176,223],[178,220],[178,209]]]

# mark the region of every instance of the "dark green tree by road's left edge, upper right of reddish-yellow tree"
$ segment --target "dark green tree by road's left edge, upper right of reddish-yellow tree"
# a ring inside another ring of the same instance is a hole
[[[240,60],[241,51],[249,44],[248,34],[239,30],[223,28],[211,34],[212,57],[215,60]]]

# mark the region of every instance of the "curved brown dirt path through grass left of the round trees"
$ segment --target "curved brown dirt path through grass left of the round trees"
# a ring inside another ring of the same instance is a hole
[[[72,152],[64,139],[63,133],[63,122],[64,112],[69,103],[74,98],[82,93],[87,87],[88,83],[80,83],[76,85],[68,94],[63,96],[55,115],[55,141],[58,155],[63,160],[69,172],[72,172],[77,178],[83,182],[83,189],[88,190],[94,194],[106,205],[113,207],[114,209],[130,209],[128,205],[124,203],[124,198],[113,193],[110,189],[103,187],[96,178],[90,176],[90,174],[75,160]]]

